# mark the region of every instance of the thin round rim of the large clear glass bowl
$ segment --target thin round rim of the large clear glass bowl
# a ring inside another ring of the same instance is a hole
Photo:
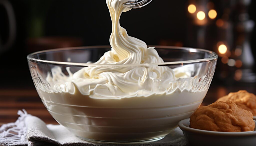
[[[67,47],[67,48],[58,48],[58,49],[50,49],[50,50],[43,50],[37,51],[34,53],[30,53],[27,55],[27,59],[36,62],[44,62],[49,64],[57,64],[57,65],[73,65],[73,66],[116,66],[116,67],[124,67],[124,66],[168,66],[168,65],[185,65],[185,64],[194,64],[194,63],[201,63],[201,62],[209,62],[218,59],[218,54],[205,50],[205,49],[197,49],[197,48],[189,48],[189,47],[176,47],[176,46],[148,46],[148,47],[155,47],[159,49],[180,49],[180,50],[187,50],[189,52],[208,52],[212,54],[212,57],[209,58],[202,58],[196,60],[185,60],[185,61],[173,61],[173,62],[164,62],[164,63],[150,63],[150,64],[94,64],[94,63],[77,63],[77,62],[61,62],[61,61],[49,61],[49,60],[42,60],[33,58],[32,55],[45,53],[45,52],[54,52],[54,51],[65,51],[65,50],[79,50],[79,49],[103,49],[103,48],[111,48],[111,46],[84,46],[84,47]]]

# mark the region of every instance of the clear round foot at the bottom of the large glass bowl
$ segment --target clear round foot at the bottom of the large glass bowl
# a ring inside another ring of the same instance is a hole
[[[93,143],[107,143],[107,144],[139,144],[139,143],[148,143],[148,142],[154,142],[154,141],[158,141],[163,139],[165,136],[163,137],[158,137],[158,138],[154,138],[154,139],[149,139],[149,140],[141,140],[141,141],[102,141],[102,140],[94,140],[94,139],[88,139],[88,138],[84,138],[84,137],[79,137],[82,140],[86,140],[89,142],[93,142]]]

